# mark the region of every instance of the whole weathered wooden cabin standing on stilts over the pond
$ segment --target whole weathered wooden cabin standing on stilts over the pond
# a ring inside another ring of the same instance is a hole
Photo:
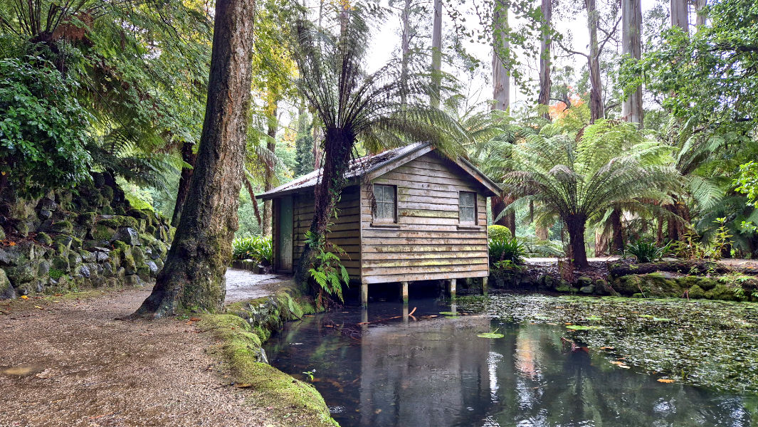
[[[292,272],[313,219],[314,171],[260,196],[274,200],[274,269]],[[327,239],[346,251],[350,278],[368,285],[486,278],[488,196],[499,190],[465,159],[424,143],[351,162]],[[373,193],[373,194],[372,194]]]

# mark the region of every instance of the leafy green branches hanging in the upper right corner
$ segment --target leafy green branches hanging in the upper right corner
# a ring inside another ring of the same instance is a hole
[[[709,2],[708,15],[694,34],[666,30],[656,49],[629,60],[622,68],[625,92],[644,83],[678,118],[719,132],[750,131],[758,124],[758,7],[753,0]]]

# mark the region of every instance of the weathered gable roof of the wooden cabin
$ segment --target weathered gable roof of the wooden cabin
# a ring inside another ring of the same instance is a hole
[[[434,146],[430,143],[412,143],[396,149],[389,149],[378,154],[365,155],[358,159],[352,159],[345,172],[345,177],[348,181],[356,181],[357,178],[362,176],[375,177],[398,168],[421,155],[434,151],[434,149]],[[487,188],[487,190],[490,190],[493,193],[490,194],[490,196],[500,193],[500,187],[490,180],[487,175],[475,168],[474,165],[471,165],[468,160],[462,158],[453,160],[448,157],[446,157],[446,159],[458,165],[468,175],[471,175],[472,178]],[[315,187],[321,177],[321,171],[321,169],[318,171],[312,171],[311,173],[298,177],[287,184],[282,184],[279,187],[268,190],[267,192],[260,194],[258,199],[274,199],[278,196],[299,193],[306,188]]]

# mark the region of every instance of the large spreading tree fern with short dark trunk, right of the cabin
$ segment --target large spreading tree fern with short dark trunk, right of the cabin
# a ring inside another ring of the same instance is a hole
[[[598,120],[579,135],[559,124],[522,132],[515,144],[493,140],[500,143],[493,163],[509,171],[504,190],[519,197],[509,209],[533,203],[538,224],[559,217],[582,253],[585,224],[599,221],[609,206],[643,210],[678,188],[677,172],[666,165],[670,149],[643,140],[634,124]],[[573,256],[578,265],[587,263],[586,256]]]

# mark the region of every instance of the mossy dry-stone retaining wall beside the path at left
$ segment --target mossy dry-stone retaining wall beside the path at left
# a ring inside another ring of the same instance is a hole
[[[155,278],[173,228],[152,211],[131,209],[115,184],[93,177],[77,194],[0,204],[0,299]]]

